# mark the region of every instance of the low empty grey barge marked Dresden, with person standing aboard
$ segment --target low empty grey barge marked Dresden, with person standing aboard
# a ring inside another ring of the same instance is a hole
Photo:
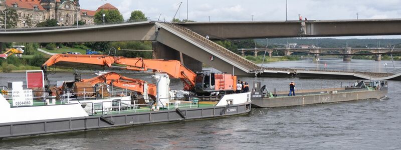
[[[360,81],[349,87],[296,90],[295,96],[289,96],[288,91],[256,89],[252,92],[253,107],[284,107],[382,98],[387,95],[387,81]]]

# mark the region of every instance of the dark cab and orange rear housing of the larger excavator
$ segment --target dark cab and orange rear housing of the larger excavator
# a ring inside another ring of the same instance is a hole
[[[196,72],[195,93],[210,95],[216,91],[234,91],[236,76],[211,71]]]

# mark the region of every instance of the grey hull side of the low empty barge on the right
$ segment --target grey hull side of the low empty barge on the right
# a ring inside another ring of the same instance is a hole
[[[274,98],[252,99],[253,107],[284,107],[317,103],[330,103],[369,98],[381,98],[387,95],[387,89],[374,91],[340,92],[313,95],[284,96]]]

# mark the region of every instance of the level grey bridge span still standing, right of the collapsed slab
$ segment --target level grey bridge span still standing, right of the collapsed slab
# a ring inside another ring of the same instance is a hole
[[[185,22],[181,25],[211,39],[399,35],[401,19]]]

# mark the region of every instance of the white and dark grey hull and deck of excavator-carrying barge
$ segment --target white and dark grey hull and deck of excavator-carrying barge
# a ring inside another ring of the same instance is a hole
[[[250,94],[227,94],[219,101],[172,99],[158,110],[152,104],[132,103],[129,96],[34,100],[31,106],[14,106],[0,94],[0,139],[246,114],[251,111]]]

